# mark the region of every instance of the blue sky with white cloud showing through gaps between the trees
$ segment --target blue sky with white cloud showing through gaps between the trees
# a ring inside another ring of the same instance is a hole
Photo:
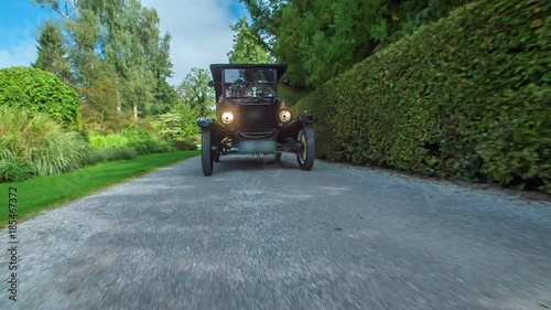
[[[233,32],[229,25],[246,14],[238,0],[141,0],[161,18],[161,33],[170,32],[171,60],[179,84],[192,67],[227,62]],[[57,18],[31,0],[0,0],[0,68],[29,66],[36,61],[40,26]]]

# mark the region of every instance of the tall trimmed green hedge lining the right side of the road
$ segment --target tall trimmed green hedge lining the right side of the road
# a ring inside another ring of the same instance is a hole
[[[550,36],[550,1],[478,1],[293,108],[321,158],[551,193]]]

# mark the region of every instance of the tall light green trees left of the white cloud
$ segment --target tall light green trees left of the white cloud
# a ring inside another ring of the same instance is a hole
[[[74,85],[89,115],[115,110],[118,118],[132,116],[126,122],[137,125],[138,117],[166,113],[177,103],[175,89],[166,82],[173,74],[171,35],[160,33],[154,9],[142,7],[140,0],[33,1],[64,18],[58,32],[46,23],[41,38],[54,42],[47,46],[65,47]],[[53,60],[42,57],[37,63],[48,67]],[[110,98],[98,105],[100,97]],[[117,130],[119,125],[100,121],[99,127]]]

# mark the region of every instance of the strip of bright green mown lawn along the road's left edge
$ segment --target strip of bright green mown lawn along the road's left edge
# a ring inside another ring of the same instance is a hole
[[[18,217],[75,200],[107,185],[150,172],[156,168],[197,156],[199,151],[183,151],[138,156],[136,159],[98,163],[80,170],[23,182],[0,184],[0,227],[9,216],[9,188],[17,186]],[[19,222],[19,221],[18,221]]]

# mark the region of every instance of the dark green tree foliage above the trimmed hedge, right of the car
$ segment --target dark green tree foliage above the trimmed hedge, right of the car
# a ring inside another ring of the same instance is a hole
[[[241,0],[251,30],[296,86],[328,78],[468,0]]]

